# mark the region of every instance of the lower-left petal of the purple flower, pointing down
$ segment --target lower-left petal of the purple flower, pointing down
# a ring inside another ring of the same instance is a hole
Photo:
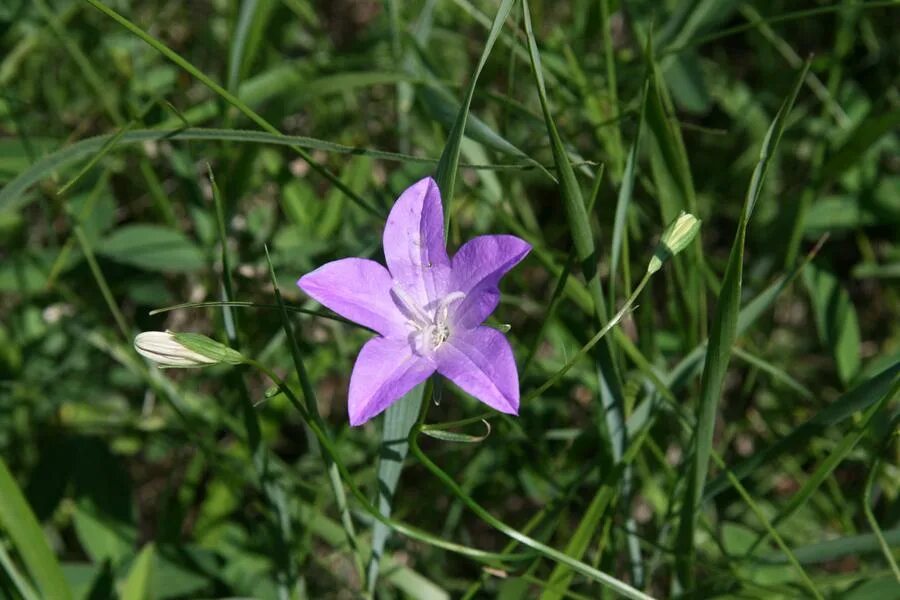
[[[362,425],[434,373],[409,342],[376,337],[359,351],[350,375],[350,425]]]

